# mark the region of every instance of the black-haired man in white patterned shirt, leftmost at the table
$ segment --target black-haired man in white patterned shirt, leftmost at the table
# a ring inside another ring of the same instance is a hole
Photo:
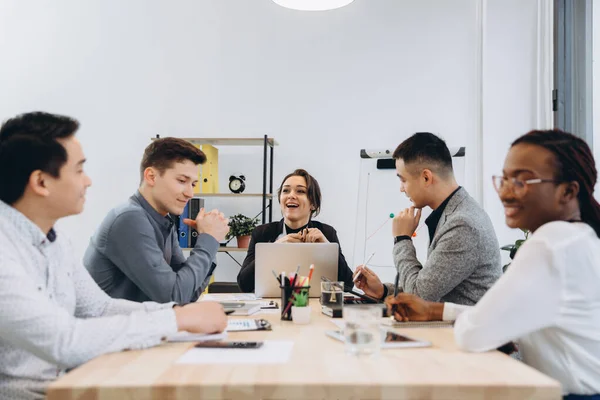
[[[0,128],[0,398],[41,399],[68,368],[157,345],[178,330],[220,332],[216,303],[111,299],[54,230],[91,185],[77,121],[29,113]],[[217,216],[214,216],[215,218]]]

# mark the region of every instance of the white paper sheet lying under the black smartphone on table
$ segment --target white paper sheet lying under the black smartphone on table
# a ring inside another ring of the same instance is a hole
[[[286,364],[294,342],[265,340],[258,349],[193,348],[176,361],[177,364]]]

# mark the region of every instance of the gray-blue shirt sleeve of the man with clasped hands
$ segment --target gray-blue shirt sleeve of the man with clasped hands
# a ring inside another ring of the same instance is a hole
[[[108,232],[106,256],[152,301],[189,303],[212,271],[219,243],[200,234],[190,257],[177,271],[165,261],[154,229],[136,211],[119,215]]]

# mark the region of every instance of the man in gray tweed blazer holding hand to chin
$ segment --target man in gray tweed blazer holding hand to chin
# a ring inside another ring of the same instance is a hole
[[[393,221],[399,290],[428,301],[477,303],[502,274],[498,239],[489,216],[458,186],[450,151],[442,139],[416,133],[396,148],[393,157],[400,191],[413,202]],[[430,244],[423,265],[417,260],[412,235],[425,206],[433,212],[425,220]],[[384,299],[393,294],[394,285],[384,285],[364,265],[357,267],[355,279],[356,286],[369,296]]]

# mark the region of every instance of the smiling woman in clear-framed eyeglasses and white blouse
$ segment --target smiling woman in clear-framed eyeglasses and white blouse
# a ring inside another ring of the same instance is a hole
[[[558,380],[565,399],[600,399],[600,204],[588,145],[559,130],[518,138],[494,186],[506,224],[532,232],[506,274],[471,307],[400,294],[394,317],[456,320],[460,348],[517,341],[523,361]]]

